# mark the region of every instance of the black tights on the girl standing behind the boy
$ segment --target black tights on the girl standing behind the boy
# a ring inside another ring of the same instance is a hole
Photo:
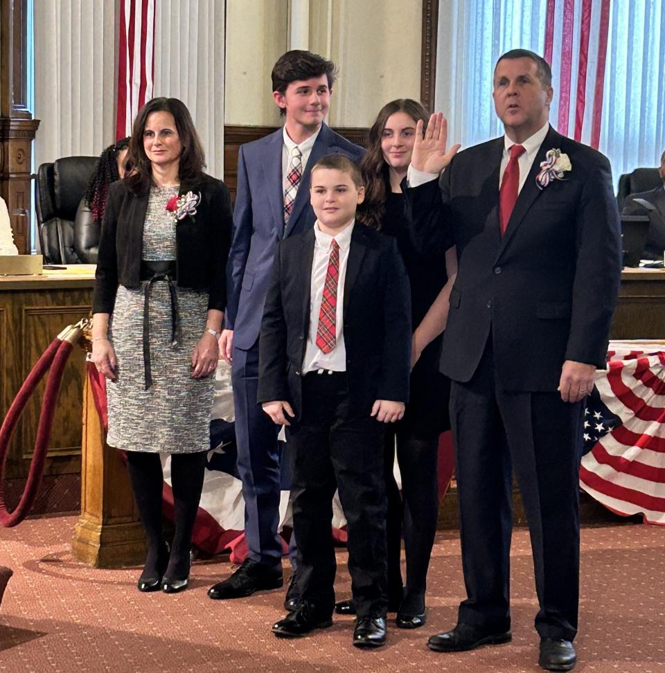
[[[395,440],[402,476],[401,499],[393,476]],[[400,550],[403,528],[407,584],[402,610],[407,613],[422,612],[425,607],[427,568],[438,517],[437,458],[438,437],[418,438],[408,430],[386,434],[388,596],[394,605],[402,592]]]

